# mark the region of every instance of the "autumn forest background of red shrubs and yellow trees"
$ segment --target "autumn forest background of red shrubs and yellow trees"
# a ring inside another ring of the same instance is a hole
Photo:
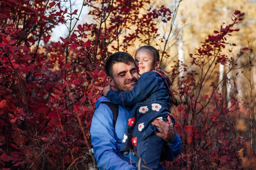
[[[88,169],[105,61],[141,45],[159,50],[182,101],[172,108],[182,151],[164,167],[255,169],[255,8],[254,0],[0,0],[0,169]]]

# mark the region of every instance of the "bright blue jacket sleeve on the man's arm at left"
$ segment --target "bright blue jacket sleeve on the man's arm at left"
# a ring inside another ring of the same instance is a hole
[[[136,167],[116,155],[113,114],[110,109],[96,109],[90,134],[99,170],[136,170]]]

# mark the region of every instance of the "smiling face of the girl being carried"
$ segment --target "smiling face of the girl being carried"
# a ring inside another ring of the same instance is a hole
[[[137,54],[135,56],[135,64],[138,74],[142,75],[145,72],[153,70],[153,62],[154,57],[150,50],[140,49],[139,51],[137,51]]]

